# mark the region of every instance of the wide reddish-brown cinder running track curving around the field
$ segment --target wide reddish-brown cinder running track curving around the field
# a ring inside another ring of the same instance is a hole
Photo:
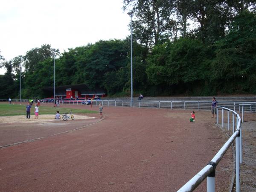
[[[196,112],[195,123],[183,110],[103,112],[103,121],[84,129],[0,148],[0,191],[177,191],[225,142],[204,111]],[[79,121],[72,126],[85,120]],[[228,190],[232,160],[228,151],[218,165],[216,191]],[[205,187],[206,181],[196,191]]]

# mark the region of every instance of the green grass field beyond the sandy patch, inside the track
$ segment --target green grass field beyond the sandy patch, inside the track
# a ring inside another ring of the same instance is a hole
[[[33,105],[31,108],[31,113],[34,112],[35,106]],[[56,111],[60,111],[60,113],[67,113],[72,110],[72,113],[98,113],[97,111],[89,111],[87,109],[71,109],[71,108],[54,108],[54,107],[46,107],[39,106],[39,114],[55,114]],[[13,115],[25,115],[26,114],[26,106],[25,105],[9,105],[6,103],[0,103],[0,116],[13,116]]]

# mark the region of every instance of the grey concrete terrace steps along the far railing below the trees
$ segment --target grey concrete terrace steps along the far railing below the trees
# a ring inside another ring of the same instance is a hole
[[[136,99],[136,100],[135,100]],[[239,110],[239,104],[243,102],[256,102],[256,97],[216,97],[219,106],[226,106],[228,108]],[[103,101],[94,102],[93,105],[99,104],[101,102],[103,105],[115,105],[115,106],[126,106],[130,107],[131,102],[129,97],[124,98],[104,98]],[[234,103],[240,102],[240,103]],[[134,98],[134,107],[143,108],[184,108],[192,110],[210,110],[212,103],[212,96],[208,97],[144,97],[141,101]],[[245,111],[249,111],[251,107],[245,107]],[[255,111],[253,106],[253,111]]]

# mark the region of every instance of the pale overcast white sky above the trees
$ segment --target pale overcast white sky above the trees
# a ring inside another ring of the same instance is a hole
[[[122,0],[1,0],[0,54],[9,61],[43,44],[63,52],[124,39],[130,17],[122,6]]]

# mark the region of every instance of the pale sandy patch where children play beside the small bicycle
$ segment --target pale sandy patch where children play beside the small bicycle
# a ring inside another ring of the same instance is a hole
[[[31,119],[26,119],[25,115],[16,116],[0,116],[0,123],[35,123],[35,122],[49,122],[49,121],[63,121],[62,119],[54,119],[55,115],[39,115],[35,119],[35,115],[31,115]],[[95,119],[96,117],[86,115],[74,115],[75,119]],[[70,119],[72,121],[72,119]]]

